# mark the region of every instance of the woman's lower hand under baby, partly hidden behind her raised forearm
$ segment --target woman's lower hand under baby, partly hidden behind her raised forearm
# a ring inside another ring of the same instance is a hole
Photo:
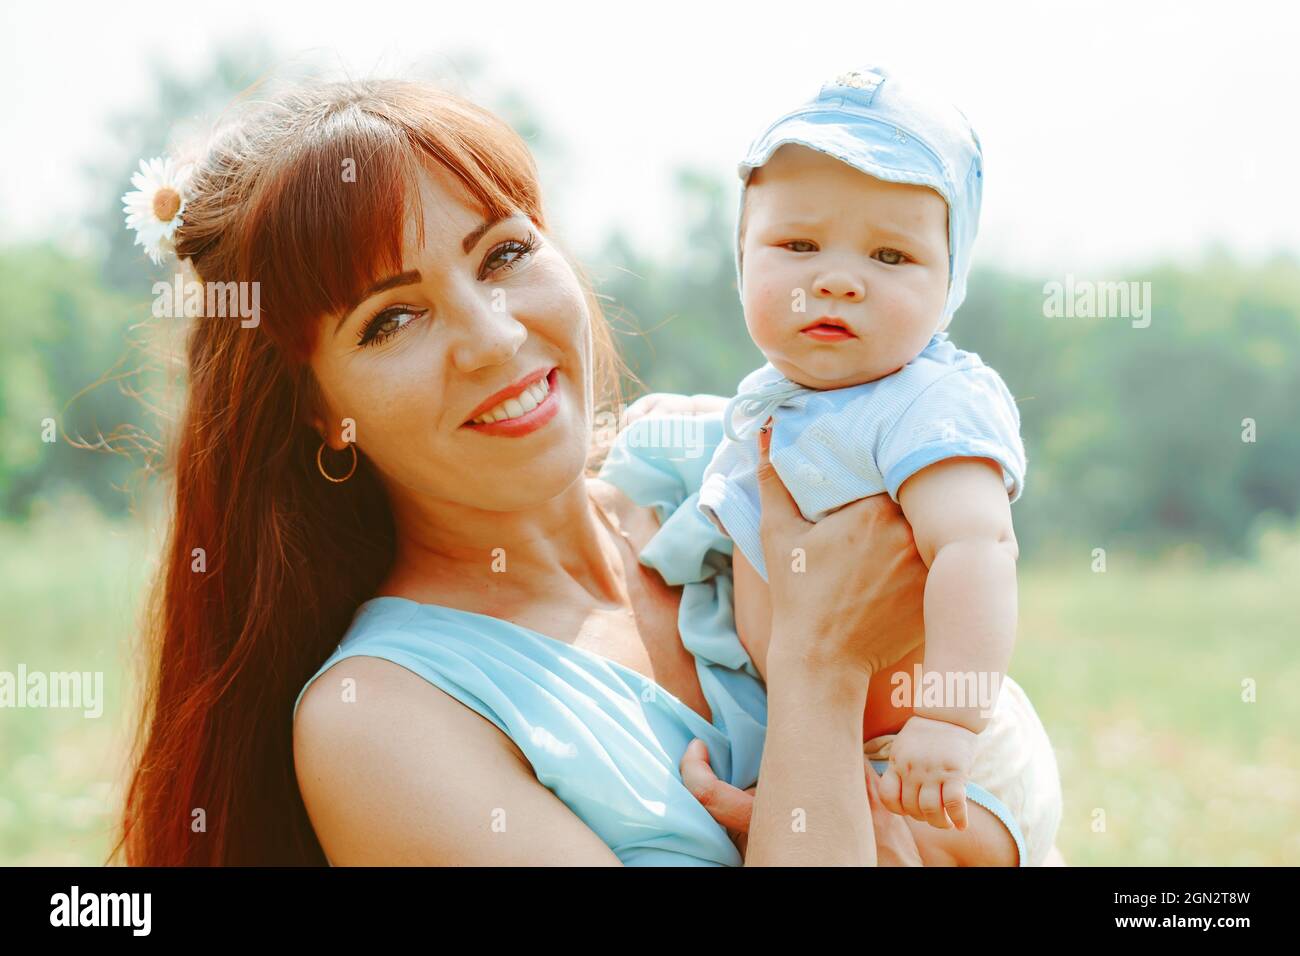
[[[867,800],[871,804],[871,829],[876,835],[876,866],[922,866],[920,851],[911,827],[902,817],[889,813],[880,801],[880,783],[871,762],[863,758]],[[740,790],[718,779],[708,765],[708,748],[696,737],[681,758],[681,782],[708,814],[732,838],[744,858],[749,843],[749,821],[754,813],[757,784]]]

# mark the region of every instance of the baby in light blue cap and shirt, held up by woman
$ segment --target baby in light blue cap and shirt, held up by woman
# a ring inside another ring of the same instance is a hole
[[[1011,832],[1020,865],[1039,865],[1060,823],[1060,778],[1037,714],[1005,676],[1019,414],[1001,377],[946,333],[979,220],[979,138],[952,105],[867,68],[780,117],[740,169],[741,300],[768,362],[727,407],[699,509],[734,542],[741,643],[766,678],[754,432],[772,419],[772,466],[807,520],[888,493],[930,567],[924,645],[867,692],[864,752],[884,770],[885,805],[946,830],[953,861],[985,862],[984,843],[961,845],[968,797]],[[853,541],[844,555],[854,559]]]

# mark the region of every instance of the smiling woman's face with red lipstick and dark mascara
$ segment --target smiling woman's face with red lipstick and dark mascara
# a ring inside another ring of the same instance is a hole
[[[412,217],[402,273],[324,319],[317,427],[342,449],[352,419],[393,494],[490,511],[551,498],[582,473],[590,442],[584,290],[526,216],[489,221],[442,169],[420,198],[424,246]]]

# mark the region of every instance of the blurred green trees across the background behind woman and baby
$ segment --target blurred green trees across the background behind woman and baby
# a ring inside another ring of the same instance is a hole
[[[265,46],[244,44],[218,51],[187,78],[160,69],[153,99],[110,121],[112,148],[87,166],[103,196],[90,217],[96,251],[0,250],[8,342],[0,352],[0,507],[8,515],[25,514],[58,485],[87,489],[109,511],[127,505],[114,485],[130,462],[47,446],[42,423],[62,416],[64,432],[90,444],[124,424],[146,444],[159,436],[150,406],[131,397],[156,384],[156,369],[139,363],[127,338],[148,316],[152,284],[166,267],[153,268],[133,246],[120,198],[139,159],[170,146],[178,118],[211,120],[273,62]],[[326,66],[299,59],[276,64],[274,75]],[[399,72],[497,109],[537,152],[554,203],[567,153],[526,91],[493,87],[473,57],[430,56]],[[763,362],[736,293],[734,187],[681,169],[676,193],[680,239],[668,250],[646,255],[615,232],[588,265],[647,390],[729,395]],[[1300,510],[1300,263],[1247,264],[1212,250],[1192,268],[1127,278],[1152,284],[1148,328],[1119,317],[1045,317],[1040,280],[988,269],[971,277],[950,328],[1019,403],[1030,459],[1017,505],[1022,551],[1195,542],[1216,555],[1242,553],[1253,525],[1269,515],[1294,520]],[[1243,441],[1247,419],[1254,441]]]

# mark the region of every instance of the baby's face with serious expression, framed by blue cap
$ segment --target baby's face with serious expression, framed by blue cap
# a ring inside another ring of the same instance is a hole
[[[846,388],[920,354],[948,298],[939,193],[788,144],[753,173],[745,202],[745,324],[781,375]]]

